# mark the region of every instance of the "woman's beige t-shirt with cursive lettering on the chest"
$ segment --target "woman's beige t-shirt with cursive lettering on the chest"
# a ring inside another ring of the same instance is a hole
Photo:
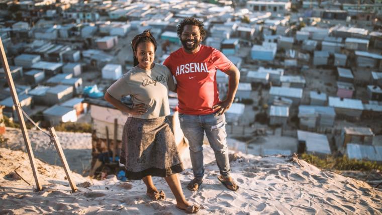
[[[108,93],[120,100],[130,95],[134,105],[146,104],[148,112],[134,118],[152,119],[170,114],[168,90],[174,90],[175,83],[167,67],[155,63],[151,70],[137,66],[132,68],[120,79],[113,83]]]

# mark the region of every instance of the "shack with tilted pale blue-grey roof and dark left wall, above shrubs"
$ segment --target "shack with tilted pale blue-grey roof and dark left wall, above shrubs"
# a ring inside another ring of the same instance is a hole
[[[299,147],[305,149],[309,154],[329,155],[331,154],[328,137],[324,134],[318,134],[306,131],[297,131]]]

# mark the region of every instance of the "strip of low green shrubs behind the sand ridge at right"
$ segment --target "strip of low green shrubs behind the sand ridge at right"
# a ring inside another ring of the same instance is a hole
[[[316,155],[304,153],[299,155],[299,158],[321,169],[382,171],[382,164],[377,164],[376,162],[372,161],[349,159],[347,156],[335,157],[333,155],[328,155],[325,158],[320,158]]]

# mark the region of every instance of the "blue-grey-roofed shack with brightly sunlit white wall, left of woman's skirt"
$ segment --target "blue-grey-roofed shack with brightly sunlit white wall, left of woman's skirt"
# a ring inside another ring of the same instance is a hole
[[[53,105],[47,110],[43,111],[44,120],[49,122],[50,126],[55,126],[67,122],[76,122],[77,115],[71,107]]]

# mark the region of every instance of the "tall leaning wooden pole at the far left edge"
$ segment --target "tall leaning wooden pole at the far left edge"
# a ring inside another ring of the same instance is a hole
[[[17,96],[17,92],[16,92],[16,89],[15,89],[15,84],[13,82],[11,71],[9,69],[7,55],[6,55],[6,52],[4,50],[3,41],[2,41],[1,37],[0,37],[0,50],[2,52],[1,58],[2,58],[2,63],[3,63],[4,73],[5,73],[7,81],[8,81],[8,85],[9,85],[9,88],[10,88],[10,91],[11,91],[13,103],[14,103],[14,105],[16,107],[16,113],[17,113],[17,117],[19,118],[19,124],[20,124],[21,132],[23,133],[25,148],[27,149],[27,153],[28,153],[28,157],[29,157],[29,162],[31,163],[33,177],[34,177],[35,183],[36,183],[36,190],[37,191],[41,191],[42,190],[42,186],[41,186],[41,184],[39,182],[39,178],[38,178],[38,172],[37,172],[37,168],[36,168],[35,156],[33,155],[31,142],[29,140],[27,127],[26,127],[25,121],[24,121],[24,116],[23,116],[23,113],[21,112],[21,109],[19,108],[19,105],[20,105],[19,97]]]

